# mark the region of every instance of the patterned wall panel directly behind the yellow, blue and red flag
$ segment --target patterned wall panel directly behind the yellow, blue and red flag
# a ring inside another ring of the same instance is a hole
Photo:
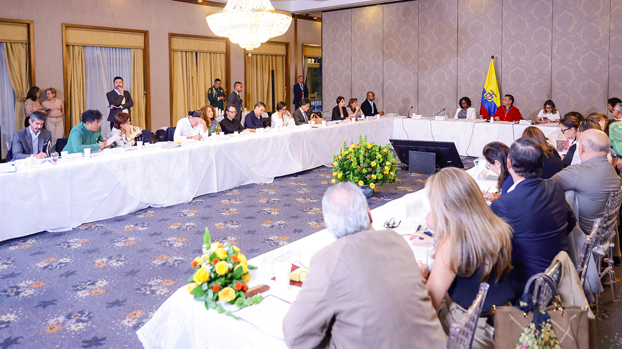
[[[469,97],[480,111],[481,91],[484,88],[490,56],[501,66],[501,6],[502,0],[458,1],[458,96],[452,116],[463,96]],[[497,82],[502,84],[502,76]],[[478,114],[479,115],[479,114]]]

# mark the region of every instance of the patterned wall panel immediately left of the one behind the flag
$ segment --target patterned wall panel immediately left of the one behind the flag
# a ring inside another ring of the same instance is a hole
[[[419,0],[419,98],[417,112],[450,112],[456,100],[457,0]],[[453,109],[455,111],[455,109]]]

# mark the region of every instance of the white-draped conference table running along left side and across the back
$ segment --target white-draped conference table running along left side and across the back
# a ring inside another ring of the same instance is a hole
[[[191,201],[250,183],[330,166],[343,142],[386,144],[389,138],[455,142],[460,155],[480,156],[494,140],[511,144],[525,125],[481,120],[415,120],[381,117],[328,122],[325,127],[220,135],[180,147],[132,150],[91,158],[38,163],[0,173],[0,241],[32,233],[70,230],[81,224],[144,209]],[[308,125],[307,125],[308,126]],[[538,126],[546,135],[557,126]],[[167,145],[167,147],[169,147]],[[173,145],[176,146],[176,145]],[[12,166],[2,164],[1,166]]]

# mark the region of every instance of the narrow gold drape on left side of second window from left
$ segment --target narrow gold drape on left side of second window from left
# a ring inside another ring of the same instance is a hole
[[[69,81],[67,95],[69,97],[69,112],[67,118],[69,127],[81,122],[81,115],[86,110],[86,73],[84,63],[84,47],[67,45],[67,81]],[[67,106],[65,106],[67,107]],[[104,116],[104,120],[108,116]]]

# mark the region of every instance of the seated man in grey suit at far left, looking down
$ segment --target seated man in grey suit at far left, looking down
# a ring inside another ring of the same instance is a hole
[[[43,129],[45,114],[36,111],[30,114],[29,126],[13,134],[11,151],[13,160],[34,156],[37,159],[47,157],[47,143],[52,139],[52,132]]]

